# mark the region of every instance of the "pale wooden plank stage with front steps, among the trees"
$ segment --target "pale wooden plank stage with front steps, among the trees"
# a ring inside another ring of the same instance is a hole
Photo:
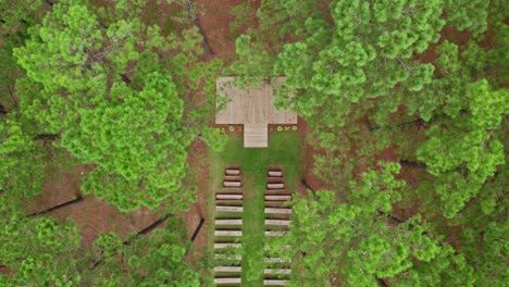
[[[269,124],[297,124],[297,114],[277,111],[273,90],[283,83],[283,77],[271,78],[271,83],[259,86],[234,87],[233,77],[218,78],[218,95],[226,98],[226,107],[215,114],[216,124],[243,124],[244,147],[266,148]],[[219,103],[220,104],[220,103]],[[218,105],[219,105],[218,104]]]

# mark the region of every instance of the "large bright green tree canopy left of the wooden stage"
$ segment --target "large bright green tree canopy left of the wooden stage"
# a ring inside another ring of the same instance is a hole
[[[14,50],[26,71],[17,89],[28,117],[61,135],[57,145],[82,163],[96,165],[85,191],[123,212],[153,210],[166,199],[176,211],[194,198],[182,184],[187,151],[207,130],[221,62],[199,62],[195,28],[163,37],[159,26],[141,23],[144,7],[54,4]],[[198,91],[209,97],[197,99]],[[220,137],[207,135],[211,142]]]

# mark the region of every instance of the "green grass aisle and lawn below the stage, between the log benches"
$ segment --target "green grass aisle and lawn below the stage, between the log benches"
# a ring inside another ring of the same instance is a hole
[[[282,166],[286,189],[296,191],[303,138],[297,133],[272,133],[269,148],[244,148],[240,135],[228,139],[223,152],[210,151],[210,222],[215,217],[214,195],[221,190],[226,165],[239,165],[244,180],[243,286],[261,286],[263,280],[263,195],[269,166]],[[209,225],[209,250],[213,250],[214,226]],[[213,252],[211,252],[213,253]]]

